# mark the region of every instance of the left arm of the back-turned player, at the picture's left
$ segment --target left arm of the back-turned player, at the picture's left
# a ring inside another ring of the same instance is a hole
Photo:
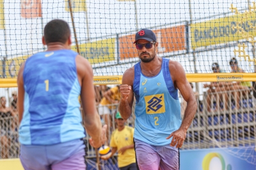
[[[23,82],[23,71],[24,71],[25,62],[20,67],[18,78],[17,78],[17,84],[18,84],[18,101],[17,101],[17,107],[18,107],[18,113],[19,113],[19,124],[23,117],[23,111],[24,111],[24,95],[25,95],[25,89],[24,89],[24,82]]]

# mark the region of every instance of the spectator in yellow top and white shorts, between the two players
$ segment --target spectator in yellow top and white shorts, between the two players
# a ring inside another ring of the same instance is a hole
[[[107,143],[109,143],[109,132],[112,128],[111,115],[115,114],[116,106],[118,105],[121,97],[119,87],[120,86],[117,85],[116,87],[113,87],[104,92],[104,97],[102,98],[99,104],[99,115],[100,117],[103,117],[104,124],[108,125],[108,131],[106,132]]]

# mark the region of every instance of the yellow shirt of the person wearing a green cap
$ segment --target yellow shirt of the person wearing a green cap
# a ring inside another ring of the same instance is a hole
[[[111,135],[110,146],[117,148],[123,148],[124,146],[129,146],[133,144],[133,134],[134,128],[125,126],[122,131],[116,129]],[[134,148],[125,150],[124,154],[118,154],[118,167],[129,166],[135,163],[135,151]]]

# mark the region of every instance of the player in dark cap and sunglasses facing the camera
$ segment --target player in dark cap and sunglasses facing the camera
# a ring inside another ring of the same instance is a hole
[[[127,120],[135,95],[134,143],[138,167],[179,169],[179,148],[196,113],[195,95],[182,66],[156,54],[158,43],[154,32],[141,29],[134,43],[141,62],[124,73],[118,109]],[[178,89],[188,103],[183,120]]]

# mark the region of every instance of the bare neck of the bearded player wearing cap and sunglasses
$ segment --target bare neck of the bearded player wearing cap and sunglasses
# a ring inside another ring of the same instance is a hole
[[[141,61],[141,71],[145,76],[156,76],[159,71],[161,71],[161,66],[162,66],[162,58],[156,57],[150,61],[150,62],[142,62]]]

